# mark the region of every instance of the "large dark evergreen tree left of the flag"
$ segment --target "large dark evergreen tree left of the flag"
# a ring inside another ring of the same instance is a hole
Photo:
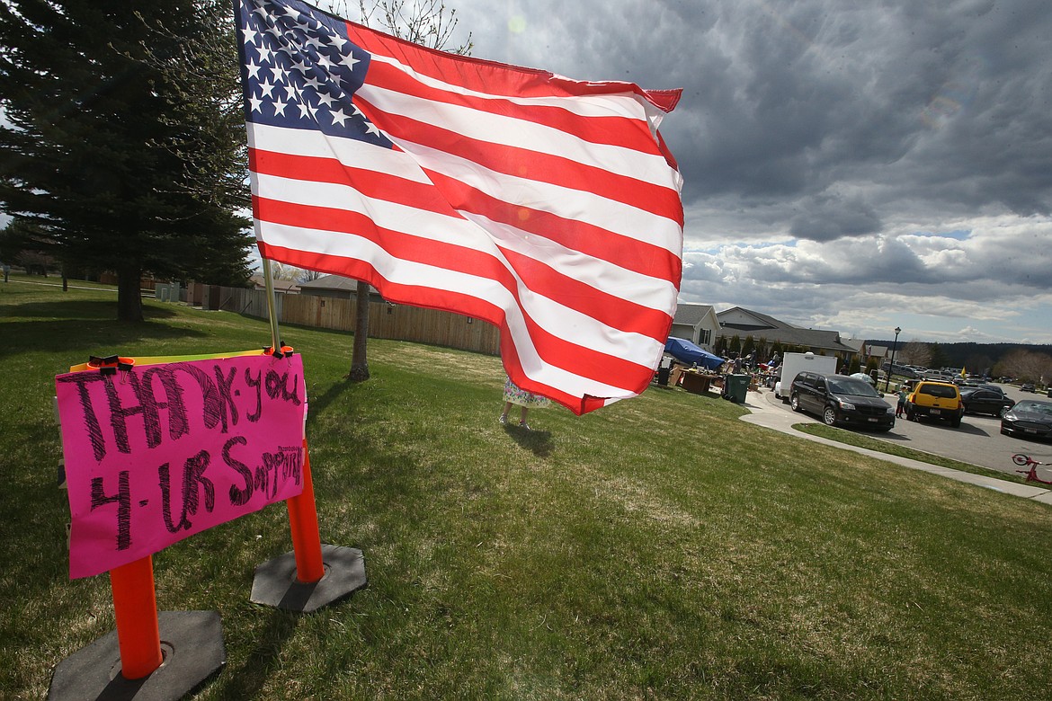
[[[236,83],[215,79],[238,75],[229,15],[209,0],[0,3],[0,208],[63,260],[116,272],[122,321],[142,318],[145,272],[247,276],[244,138],[229,140],[243,116],[222,95]],[[203,38],[222,46],[214,65],[188,50]]]

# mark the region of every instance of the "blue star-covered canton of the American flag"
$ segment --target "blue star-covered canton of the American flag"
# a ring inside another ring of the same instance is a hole
[[[392,146],[351,102],[370,56],[342,19],[296,0],[245,0],[238,11],[247,121]]]

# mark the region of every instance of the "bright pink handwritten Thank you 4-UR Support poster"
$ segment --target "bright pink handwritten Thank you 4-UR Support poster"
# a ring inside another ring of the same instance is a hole
[[[72,579],[303,491],[299,354],[93,369],[55,385]]]

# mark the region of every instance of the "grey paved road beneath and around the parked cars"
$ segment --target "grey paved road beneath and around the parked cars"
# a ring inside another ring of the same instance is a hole
[[[1004,390],[1009,397],[1015,400],[1035,398],[1052,401],[1043,394],[1019,392],[1013,387],[1005,386]],[[790,414],[793,413],[789,405],[777,401],[773,393],[765,391],[765,394],[767,396],[764,399],[782,407]],[[894,405],[893,394],[887,395],[886,398],[889,404]],[[817,421],[809,414],[794,414],[794,416],[798,417],[798,422]],[[943,421],[907,421],[905,418],[899,418],[896,419],[895,428],[890,432],[868,433],[866,435],[1008,473],[1014,473],[1019,469],[1012,462],[1012,455],[1015,453],[1024,453],[1040,462],[1052,462],[1052,444],[1002,435],[1000,418],[995,416],[968,414],[960,422],[960,427],[956,429],[950,428]],[[1052,471],[1043,470],[1038,474],[1044,479],[1052,479],[1050,472]]]

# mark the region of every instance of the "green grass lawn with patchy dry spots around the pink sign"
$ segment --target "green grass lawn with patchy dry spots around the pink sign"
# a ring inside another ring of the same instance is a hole
[[[114,628],[70,581],[54,375],[89,354],[269,344],[265,322],[0,285],[0,698]],[[37,279],[39,281],[39,279]],[[155,555],[158,605],[222,616],[199,699],[1039,699],[1052,509],[739,420],[653,387],[501,427],[499,358],[283,328],[303,354],[322,539],[369,584],[312,614],[248,601],[284,506]]]

